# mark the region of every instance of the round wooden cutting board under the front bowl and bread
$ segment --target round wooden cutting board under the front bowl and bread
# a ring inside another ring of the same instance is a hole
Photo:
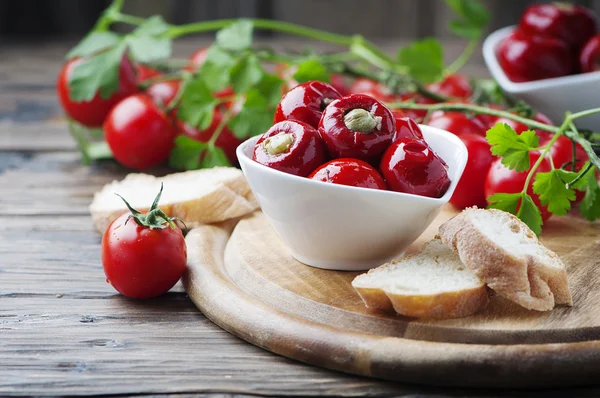
[[[411,250],[453,214],[444,211]],[[545,313],[499,296],[484,311],[461,319],[374,312],[350,285],[358,273],[297,262],[261,212],[237,225],[192,230],[184,286],[222,328],[317,366],[434,385],[594,384],[600,376],[598,231],[598,225],[574,217],[545,227],[543,240],[567,264],[574,298],[572,308]]]

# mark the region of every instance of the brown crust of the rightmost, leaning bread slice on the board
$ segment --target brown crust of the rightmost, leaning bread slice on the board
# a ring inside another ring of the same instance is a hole
[[[440,226],[440,237],[481,280],[500,295],[530,310],[548,311],[555,304],[573,304],[564,265],[549,267],[534,256],[518,256],[504,250],[469,220],[470,211],[486,211],[506,217],[515,228],[543,245],[521,220],[510,213],[495,209],[464,210]],[[555,253],[544,249],[549,257],[562,265]]]

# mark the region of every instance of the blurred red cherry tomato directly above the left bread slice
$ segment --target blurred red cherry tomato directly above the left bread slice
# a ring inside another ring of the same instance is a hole
[[[104,137],[119,163],[145,169],[169,158],[175,129],[149,97],[136,94],[119,102],[108,114]]]

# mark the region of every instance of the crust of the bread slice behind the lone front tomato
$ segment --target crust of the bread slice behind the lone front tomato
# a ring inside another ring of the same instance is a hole
[[[215,170],[218,169],[215,168]],[[203,171],[207,172],[207,170]],[[128,184],[133,181],[155,183],[157,180],[165,181],[171,178],[181,178],[186,173],[195,172],[175,173],[161,178],[147,174],[129,174],[117,184]],[[198,177],[198,183],[202,183],[201,176]],[[190,228],[241,217],[258,209],[258,203],[241,171],[238,177],[229,178],[213,185],[214,189],[202,196],[179,202],[161,203],[159,207],[170,217],[180,218]],[[105,185],[94,195],[94,199],[90,204],[94,227],[100,233],[104,233],[115,218],[127,212],[125,207],[112,210],[103,209],[103,198],[106,195],[114,195],[117,186],[115,182]],[[152,198],[148,200],[151,202]],[[138,207],[137,210],[147,211],[148,207]]]

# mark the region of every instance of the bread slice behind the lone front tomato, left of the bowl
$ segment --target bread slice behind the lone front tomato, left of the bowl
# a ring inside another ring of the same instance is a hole
[[[122,181],[105,185],[94,195],[90,212],[96,229],[108,225],[127,211],[115,193],[137,210],[147,211],[164,184],[159,207],[171,217],[179,217],[188,227],[240,217],[258,208],[246,178],[234,167],[215,167],[154,177],[129,174]]]

